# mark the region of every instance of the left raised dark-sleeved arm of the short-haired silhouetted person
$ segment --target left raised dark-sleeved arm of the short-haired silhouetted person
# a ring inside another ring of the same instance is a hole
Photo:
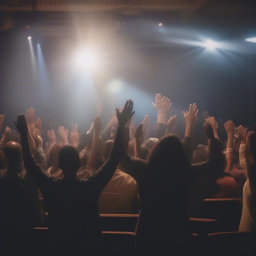
[[[36,163],[36,160],[31,153],[28,143],[28,127],[25,115],[18,115],[17,124],[15,122],[14,124],[20,132],[24,165],[37,183],[39,189],[43,191],[48,187],[51,178],[44,169]]]

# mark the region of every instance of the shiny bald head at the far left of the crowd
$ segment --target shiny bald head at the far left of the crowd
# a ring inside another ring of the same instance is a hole
[[[9,163],[19,164],[22,162],[22,149],[19,143],[9,141],[4,145],[4,153]]]

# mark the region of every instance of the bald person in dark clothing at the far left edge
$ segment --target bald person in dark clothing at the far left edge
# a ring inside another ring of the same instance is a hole
[[[8,165],[0,177],[1,255],[28,255],[33,227],[42,224],[40,194],[25,170],[20,144],[7,142],[4,153]],[[43,164],[40,154],[36,159]]]

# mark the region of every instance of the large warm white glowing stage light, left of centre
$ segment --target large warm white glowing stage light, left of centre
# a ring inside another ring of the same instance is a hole
[[[97,63],[97,57],[91,50],[81,50],[74,56],[74,62],[77,67],[90,68]]]

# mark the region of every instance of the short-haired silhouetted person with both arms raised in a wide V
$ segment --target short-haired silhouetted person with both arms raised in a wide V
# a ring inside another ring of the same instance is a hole
[[[116,116],[119,126],[109,159],[86,180],[77,178],[79,154],[74,147],[64,146],[59,153],[59,167],[64,177],[55,179],[36,164],[31,154],[25,115],[19,115],[17,128],[21,134],[24,165],[35,179],[48,209],[48,241],[53,255],[102,253],[102,229],[98,197],[111,179],[122,154],[122,132],[134,114],[133,102],[127,101]]]

